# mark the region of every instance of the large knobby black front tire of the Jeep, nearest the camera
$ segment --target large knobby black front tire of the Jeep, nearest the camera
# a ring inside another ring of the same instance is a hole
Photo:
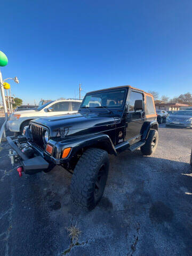
[[[92,210],[100,201],[105,189],[107,175],[109,170],[108,153],[99,148],[87,149],[74,169],[71,178],[71,198],[82,206],[85,210]],[[98,183],[98,174],[101,174],[99,182],[100,190],[96,193]]]

